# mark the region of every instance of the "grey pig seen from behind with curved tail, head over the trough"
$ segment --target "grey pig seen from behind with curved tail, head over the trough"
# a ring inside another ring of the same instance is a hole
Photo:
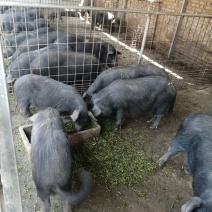
[[[62,200],[63,211],[71,211],[71,206],[83,200],[90,192],[91,175],[80,170],[81,188],[77,193],[71,193],[72,155],[59,112],[53,108],[46,108],[29,120],[33,122],[32,177],[42,201],[42,211],[50,212],[50,196],[55,193]]]

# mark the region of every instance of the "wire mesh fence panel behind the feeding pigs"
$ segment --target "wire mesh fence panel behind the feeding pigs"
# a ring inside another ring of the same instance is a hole
[[[59,4],[59,6],[58,8],[16,6],[2,12],[4,60],[10,64],[6,67],[6,73],[13,73],[15,78],[18,78],[26,73],[36,73],[40,68],[38,74],[72,84],[83,92],[102,70],[113,66],[108,65],[111,56],[108,50],[103,52],[105,44],[107,48],[112,46],[116,51],[112,63],[116,59],[119,66],[138,63],[147,20],[146,13],[119,11],[118,16],[113,20],[118,19],[120,22],[104,23],[99,19],[99,13],[103,13],[103,10],[96,12],[90,8],[84,11],[80,7],[71,9],[70,5],[69,8],[64,9],[60,6],[67,4],[66,1],[43,2]],[[80,3],[80,1],[73,1],[71,5],[79,6]],[[104,15],[106,13],[105,11]],[[24,17],[26,14],[27,16]],[[89,14],[93,15],[88,19],[85,16]],[[162,65],[177,85],[187,82],[210,83],[211,18],[185,15],[175,45],[172,46],[169,54],[178,18],[170,14],[150,14],[145,48],[141,55],[142,63],[153,62]],[[90,24],[92,19],[93,24]],[[113,29],[113,26],[116,28]],[[99,52],[94,52],[96,46],[100,48]],[[92,64],[88,65],[88,53],[94,54],[98,61],[93,58]],[[41,58],[44,58],[42,54],[46,57],[45,62],[48,63],[41,63]],[[101,54],[104,54],[104,59],[100,59]],[[68,55],[74,56],[71,56],[70,60]],[[78,59],[79,57],[83,59]],[[32,64],[36,66],[33,67]]]

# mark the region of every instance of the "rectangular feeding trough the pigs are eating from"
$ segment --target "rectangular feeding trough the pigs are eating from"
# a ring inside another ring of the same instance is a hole
[[[92,127],[90,129],[67,134],[70,145],[76,145],[90,138],[98,136],[101,130],[100,125],[97,123],[95,119],[91,119],[91,124],[92,124]],[[24,146],[28,154],[30,155],[30,149],[31,149],[30,140],[31,140],[32,124],[20,126],[19,131],[20,131]]]

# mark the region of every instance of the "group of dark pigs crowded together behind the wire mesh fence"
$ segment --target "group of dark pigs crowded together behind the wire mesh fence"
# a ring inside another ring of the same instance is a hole
[[[38,24],[40,19],[44,24]],[[28,24],[31,28],[26,27]],[[16,33],[3,39],[4,57],[11,61],[6,70],[8,82],[29,73],[69,84],[90,82],[105,66],[116,66],[120,54],[112,44],[99,38],[67,35],[49,27],[40,10],[33,8],[4,11],[1,29]]]

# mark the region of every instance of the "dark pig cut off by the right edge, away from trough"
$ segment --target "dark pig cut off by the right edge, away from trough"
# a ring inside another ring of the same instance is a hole
[[[193,113],[184,118],[177,134],[160,158],[162,166],[172,155],[186,153],[187,171],[193,182],[193,197],[181,207],[181,212],[212,211],[212,117]]]

